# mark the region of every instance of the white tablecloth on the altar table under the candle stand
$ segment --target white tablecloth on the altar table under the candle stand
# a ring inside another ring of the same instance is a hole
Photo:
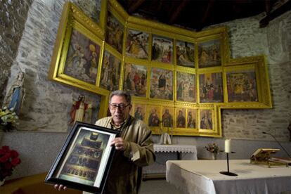
[[[291,168],[250,164],[250,160],[168,160],[166,179],[184,193],[280,193],[291,191]]]

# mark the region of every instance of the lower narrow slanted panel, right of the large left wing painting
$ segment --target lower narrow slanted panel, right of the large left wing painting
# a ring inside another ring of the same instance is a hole
[[[110,91],[119,88],[121,60],[108,51],[104,52],[100,86]]]

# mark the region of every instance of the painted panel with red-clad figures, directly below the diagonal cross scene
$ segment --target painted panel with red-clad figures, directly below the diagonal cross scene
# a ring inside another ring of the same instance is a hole
[[[143,65],[127,63],[124,68],[123,89],[134,96],[146,95],[147,70]]]

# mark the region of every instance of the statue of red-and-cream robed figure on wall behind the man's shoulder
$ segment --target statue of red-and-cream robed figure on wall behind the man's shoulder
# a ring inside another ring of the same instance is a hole
[[[91,123],[92,105],[85,103],[85,96],[83,94],[79,95],[78,101],[73,102],[70,117],[71,124],[75,124],[77,121]]]

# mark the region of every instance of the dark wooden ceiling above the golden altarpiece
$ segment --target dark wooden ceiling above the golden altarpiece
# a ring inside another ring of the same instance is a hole
[[[264,27],[290,10],[291,0],[118,0],[129,15],[200,31],[203,27],[266,13]]]

